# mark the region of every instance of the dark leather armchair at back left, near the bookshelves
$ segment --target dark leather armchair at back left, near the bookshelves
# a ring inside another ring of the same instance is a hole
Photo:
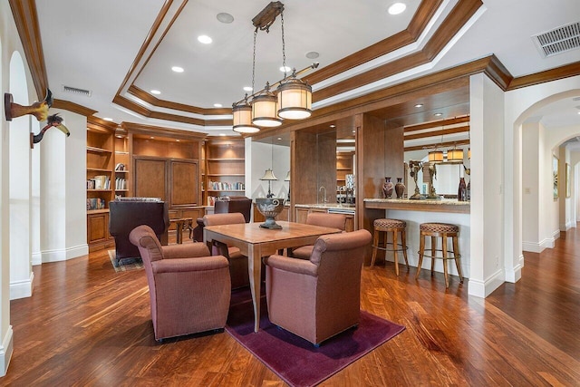
[[[115,238],[117,263],[122,258],[140,256],[139,249],[129,240],[131,230],[140,225],[151,227],[162,244],[167,245],[167,204],[155,198],[125,198],[109,203],[109,233]]]

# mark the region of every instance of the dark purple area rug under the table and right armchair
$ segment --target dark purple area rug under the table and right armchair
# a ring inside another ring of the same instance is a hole
[[[270,323],[265,295],[261,301],[260,331],[255,334],[249,290],[234,291],[226,331],[291,386],[314,386],[323,382],[405,329],[361,311],[357,329],[338,334],[316,348]]]

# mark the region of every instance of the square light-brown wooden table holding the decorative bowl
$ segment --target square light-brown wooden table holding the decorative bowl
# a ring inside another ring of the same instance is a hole
[[[261,259],[263,256],[276,254],[284,248],[314,245],[316,238],[324,234],[342,232],[338,228],[320,227],[276,221],[282,226],[281,229],[269,229],[260,227],[259,223],[244,223],[237,225],[220,225],[204,227],[204,240],[211,243],[212,240],[225,243],[240,249],[247,256],[247,271],[250,277],[250,290],[252,304],[254,305],[254,332],[260,329],[260,278]]]

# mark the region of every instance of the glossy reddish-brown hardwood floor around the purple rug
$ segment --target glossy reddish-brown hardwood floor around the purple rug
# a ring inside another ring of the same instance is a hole
[[[362,309],[406,330],[322,385],[580,385],[580,230],[526,254],[517,284],[487,299],[428,270],[362,269]],[[34,266],[34,295],[11,303],[14,356],[1,385],[278,386],[227,333],[156,343],[142,270],[105,250]]]

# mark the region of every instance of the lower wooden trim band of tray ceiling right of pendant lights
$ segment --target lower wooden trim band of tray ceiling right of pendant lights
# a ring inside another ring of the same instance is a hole
[[[421,64],[430,63],[445,45],[449,44],[453,36],[469,21],[469,18],[478,11],[481,5],[483,3],[480,0],[460,1],[453,7],[453,10],[451,10],[439,29],[420,52],[411,53],[390,63],[375,67],[368,72],[354,75],[343,82],[336,82],[324,89],[313,92],[313,102],[323,101],[343,92],[349,92],[363,85],[410,70]]]

